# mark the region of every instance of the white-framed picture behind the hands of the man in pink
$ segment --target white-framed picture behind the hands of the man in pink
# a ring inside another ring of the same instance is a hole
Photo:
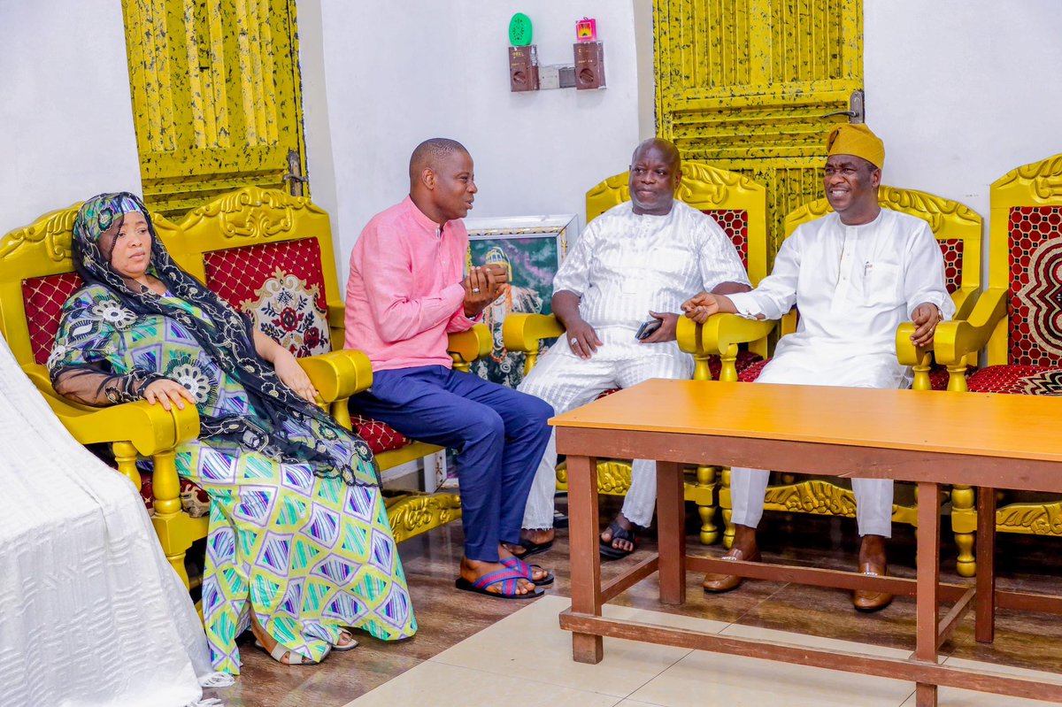
[[[524,378],[524,357],[506,350],[501,323],[510,312],[552,312],[553,275],[567,253],[576,215],[465,219],[465,226],[468,264],[501,263],[509,271],[510,282],[509,293],[483,310],[483,322],[491,328],[494,345],[486,357],[473,363],[472,372],[516,387]]]

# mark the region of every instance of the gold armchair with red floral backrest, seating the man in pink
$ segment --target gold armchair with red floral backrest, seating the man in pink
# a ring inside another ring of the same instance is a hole
[[[190,211],[167,245],[189,272],[299,357],[331,413],[369,443],[382,471],[442,451],[348,413],[347,398],[372,385],[373,370],[364,353],[343,349],[344,290],[336,278],[331,226],[310,200],[246,187]],[[465,370],[489,347],[483,326],[450,337],[455,366]],[[389,493],[387,505],[398,541],[461,516],[453,493]]]

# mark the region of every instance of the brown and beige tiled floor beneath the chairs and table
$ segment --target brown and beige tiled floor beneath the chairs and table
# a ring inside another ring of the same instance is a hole
[[[616,506],[603,502],[602,516]],[[697,541],[690,514],[687,548],[719,554],[720,546]],[[914,532],[897,525],[890,545],[890,570],[913,576]],[[946,537],[946,535],[945,535]],[[409,577],[417,635],[384,643],[359,635],[361,645],[333,654],[316,667],[282,667],[250,643],[242,643],[244,671],[236,686],[210,690],[228,707],[343,707],[386,705],[719,705],[725,707],[802,707],[804,705],[914,707],[913,684],[836,671],[791,667],[752,658],[684,649],[605,640],[605,659],[597,666],[570,659],[570,634],[558,614],[568,605],[567,534],[535,559],[556,574],[556,583],[534,602],[501,601],[453,588],[462,535],[457,524],[399,546]],[[769,515],[761,549],[772,562],[854,569],[852,521]],[[1001,586],[1060,593],[1062,540],[1001,535]],[[607,580],[655,551],[652,533],[632,557],[602,565]],[[953,571],[955,551],[943,548],[943,581],[961,582]],[[687,577],[688,601],[681,607],[656,601],[652,577],[620,594],[606,607],[611,616],[643,616],[668,625],[692,625],[730,635],[763,636],[802,645],[860,641],[859,652],[906,656],[914,646],[914,603],[897,599],[883,611],[858,615],[846,592],[767,582],[706,597],[700,577]],[[973,639],[967,616],[942,655],[948,661],[982,661],[984,670],[1018,669],[1062,672],[1062,620],[1059,617],[999,611],[996,641]],[[862,643],[870,641],[872,644]],[[1060,676],[1062,677],[1062,676]],[[959,690],[941,690],[942,707],[1017,707],[1046,705]]]

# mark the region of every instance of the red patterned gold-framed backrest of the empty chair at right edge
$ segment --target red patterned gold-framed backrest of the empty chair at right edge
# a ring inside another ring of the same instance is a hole
[[[1007,335],[988,364],[1062,364],[1062,154],[1020,167],[991,188],[989,284],[1009,289]]]

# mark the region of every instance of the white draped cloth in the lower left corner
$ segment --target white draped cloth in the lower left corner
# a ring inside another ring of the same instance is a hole
[[[200,700],[203,626],[140,495],[66,432],[2,340],[0,448],[0,704]]]

